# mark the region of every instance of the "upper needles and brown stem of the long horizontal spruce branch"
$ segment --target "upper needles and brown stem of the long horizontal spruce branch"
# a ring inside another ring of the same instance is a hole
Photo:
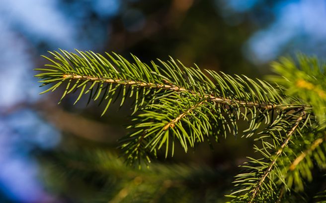
[[[235,77],[212,70],[205,72],[213,78],[209,79],[198,67],[179,65],[172,58],[168,62],[159,60],[161,66],[151,62],[152,66],[141,62],[132,55],[135,63],[130,63],[120,55],[106,53],[110,60],[92,51],[77,51],[80,55],[61,50],[62,54],[49,52],[54,59],[45,57],[52,64],[46,64],[53,69],[37,68],[42,73],[36,75],[43,80],[43,85],[55,83],[48,91],[54,91],[65,80],[84,81],[75,88],[84,87],[87,83],[107,83],[122,86],[144,87],[171,91],[188,91],[192,94],[210,97],[212,102],[226,105],[255,106],[257,108],[292,107],[283,104],[282,98],[270,84],[258,80],[257,82],[243,76]],[[87,82],[86,82],[87,81]],[[80,83],[80,82],[78,82]],[[93,87],[92,87],[93,88]],[[89,92],[85,92],[87,94]],[[67,92],[66,92],[67,94]],[[64,95],[66,96],[66,95]]]

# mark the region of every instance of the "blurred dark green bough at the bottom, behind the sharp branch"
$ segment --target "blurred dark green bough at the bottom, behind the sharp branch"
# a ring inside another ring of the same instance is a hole
[[[103,150],[59,152],[44,158],[49,173],[69,183],[71,192],[79,192],[84,184],[91,195],[84,194],[80,202],[109,203],[198,203],[225,201],[225,172],[214,171],[206,166],[164,165],[154,163],[150,169],[135,170],[124,164],[117,155]],[[49,161],[52,160],[52,161]],[[94,177],[92,182],[90,177]],[[78,182],[82,179],[83,183]],[[221,182],[221,185],[214,185]],[[102,185],[96,191],[96,185]],[[52,184],[52,191],[61,193],[62,187]],[[93,197],[95,196],[95,198]]]

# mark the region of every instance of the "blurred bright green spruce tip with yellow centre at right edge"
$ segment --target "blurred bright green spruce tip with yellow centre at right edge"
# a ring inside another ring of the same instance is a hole
[[[298,55],[298,65],[291,58],[281,58],[272,64],[278,77],[271,79],[284,86],[286,94],[296,98],[298,103],[309,103],[322,121],[326,115],[326,65],[316,57]]]

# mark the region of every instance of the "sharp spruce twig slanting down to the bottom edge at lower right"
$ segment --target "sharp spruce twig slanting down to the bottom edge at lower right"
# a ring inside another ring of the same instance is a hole
[[[293,157],[291,149],[301,138],[301,131],[305,131],[307,123],[312,122],[311,115],[304,108],[277,116],[274,123],[267,126],[260,133],[261,137],[256,139],[261,146],[255,145],[254,149],[262,158],[248,157],[250,161],[242,165],[245,171],[237,175],[234,181],[236,189],[227,197],[233,198],[233,202],[281,201],[279,199],[291,191],[291,186],[287,185],[291,179],[288,173],[288,162]]]

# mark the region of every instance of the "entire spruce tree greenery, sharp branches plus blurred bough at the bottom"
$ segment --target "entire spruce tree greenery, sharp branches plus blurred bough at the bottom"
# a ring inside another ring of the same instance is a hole
[[[44,56],[48,67],[35,69],[41,71],[36,77],[42,86],[51,84],[42,93],[63,86],[62,100],[79,90],[75,103],[87,95],[87,103],[104,104],[102,115],[118,99],[120,106],[129,98],[134,101],[130,133],[119,141],[127,165],[100,151],[82,152],[81,157],[66,154],[58,161],[63,164],[55,165],[62,171],[74,168],[67,176],[92,171],[93,176],[105,177],[110,189],[97,200],[198,202],[200,197],[191,191],[194,185],[205,185],[200,188],[206,192],[206,201],[221,201],[221,191],[228,193],[223,185],[212,188],[207,184],[221,176],[218,171],[150,162],[161,151],[165,157],[173,156],[175,145],[187,152],[231,133],[253,137],[258,155],[247,157],[233,191],[223,201],[326,201],[326,66],[316,58],[281,58],[272,64],[277,75],[266,82],[201,70],[196,65],[185,67],[172,58],[146,64],[134,55],[129,61],[115,53],[60,51],[49,52],[52,58]],[[243,122],[247,127],[239,132]],[[69,160],[78,164],[68,164]],[[144,164],[150,169],[141,167]],[[133,169],[135,165],[139,169]],[[114,176],[118,170],[126,175]]]

